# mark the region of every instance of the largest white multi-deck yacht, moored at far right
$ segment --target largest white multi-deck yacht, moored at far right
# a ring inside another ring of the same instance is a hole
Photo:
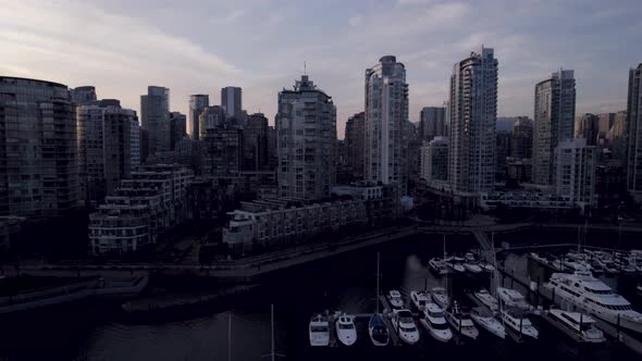
[[[621,327],[642,333],[642,314],[631,303],[615,294],[602,281],[589,272],[554,273],[546,288],[555,290],[555,297],[583,309],[591,315]]]

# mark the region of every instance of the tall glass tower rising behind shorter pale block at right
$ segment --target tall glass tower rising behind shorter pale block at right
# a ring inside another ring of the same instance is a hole
[[[573,71],[560,70],[535,86],[533,126],[533,183],[553,185],[555,148],[573,138],[576,79]]]

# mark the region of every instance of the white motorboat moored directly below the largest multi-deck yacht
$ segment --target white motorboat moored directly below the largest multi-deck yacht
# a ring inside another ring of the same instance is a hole
[[[546,320],[565,334],[580,343],[604,343],[604,334],[595,327],[595,320],[580,312],[567,312],[551,309],[545,313]]]

